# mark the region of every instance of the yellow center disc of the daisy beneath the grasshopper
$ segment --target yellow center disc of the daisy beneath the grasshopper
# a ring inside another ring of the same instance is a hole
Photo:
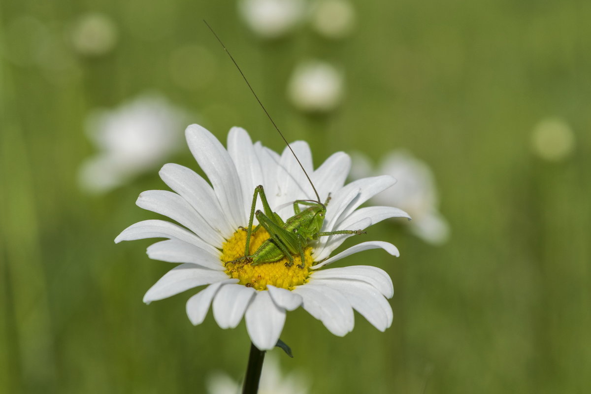
[[[264,228],[261,227],[253,232],[249,246],[251,253],[254,253],[267,239],[269,239],[269,233]],[[304,268],[298,266],[301,265],[299,255],[293,256],[294,261],[291,266],[285,265],[289,263],[285,257],[275,262],[258,265],[252,265],[248,261],[230,262],[244,256],[245,245],[246,229],[239,229],[223,243],[220,258],[226,266],[228,276],[238,279],[240,284],[254,287],[256,290],[266,290],[267,285],[292,290],[295,286],[302,285],[307,281],[309,269],[313,263],[312,248],[304,249]]]

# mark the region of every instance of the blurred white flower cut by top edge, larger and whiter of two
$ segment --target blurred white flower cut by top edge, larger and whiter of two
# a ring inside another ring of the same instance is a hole
[[[240,0],[238,10],[249,28],[264,38],[278,38],[304,16],[303,0]]]

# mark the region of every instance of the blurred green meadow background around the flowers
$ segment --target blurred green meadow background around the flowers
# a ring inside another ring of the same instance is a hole
[[[165,188],[158,168],[98,196],[77,183],[96,152],[86,116],[150,90],[222,141],[238,125],[283,148],[203,18],[287,138],[310,142],[315,165],[339,150],[377,159],[408,148],[431,165],[452,228],[430,246],[402,226],[372,227],[400,258],[370,251],[339,263],[391,275],[392,327],[380,333],[356,314],[339,338],[290,312],[281,337],[296,357],[281,357],[284,371],[303,370],[317,393],[590,392],[591,2],[353,6],[343,40],[304,24],[268,41],[234,1],[2,1],[0,392],[199,393],[212,370],[242,375],[244,324],[220,330],[209,315],[193,327],[184,302],[194,291],[142,304],[171,265],[147,258],[153,241],[113,243],[157,217],[134,202]],[[77,53],[67,35],[87,12],[118,32],[102,56]],[[41,49],[39,31],[50,43]],[[203,56],[171,65],[186,45]],[[345,72],[343,102],[325,116],[285,95],[293,65],[309,57]],[[531,132],[548,116],[574,132],[562,161],[532,153]],[[197,167],[187,148],[166,161]]]

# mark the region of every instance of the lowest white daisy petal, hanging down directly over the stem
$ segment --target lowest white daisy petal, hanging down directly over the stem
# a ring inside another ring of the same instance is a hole
[[[246,310],[246,330],[259,350],[271,350],[285,324],[285,310],[275,305],[268,291],[257,291]]]

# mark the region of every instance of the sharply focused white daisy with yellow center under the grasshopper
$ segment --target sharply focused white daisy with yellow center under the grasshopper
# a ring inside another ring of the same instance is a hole
[[[398,249],[388,242],[369,241],[352,246],[335,256],[330,253],[350,235],[320,237],[306,248],[305,261],[294,256],[277,262],[228,263],[244,255],[246,231],[252,196],[256,185],[264,185],[269,206],[282,219],[293,216],[293,201],[313,199],[306,177],[293,155],[285,149],[279,155],[252,143],[248,133],[232,128],[228,150],[209,131],[191,125],[187,143],[209,178],[177,164],[165,164],[160,177],[172,191],[150,190],[139,195],[137,205],[163,214],[178,224],[163,220],[145,220],[125,229],[115,242],[145,238],[168,238],[148,250],[152,259],[178,262],[152,286],[144,302],[170,297],[197,286],[207,285],[187,301],[187,315],[200,324],[210,305],[213,317],[222,328],[233,328],[245,317],[252,343],[260,350],[272,349],[285,323],[285,312],[300,305],[322,321],[328,330],[344,336],[353,330],[353,309],[378,330],[392,323],[392,309],[385,298],[392,297],[392,281],[374,266],[349,266],[319,269],[362,250],[382,248],[394,256]],[[313,170],[306,142],[294,142],[296,152],[321,200],[329,193],[323,232],[365,229],[389,217],[408,217],[392,207],[358,207],[375,194],[395,183],[389,175],[365,178],[348,185],[345,178],[350,158],[343,152],[329,157]],[[257,207],[262,209],[260,202]],[[254,232],[251,250],[268,239],[264,229]],[[302,265],[303,268],[298,267]]]

